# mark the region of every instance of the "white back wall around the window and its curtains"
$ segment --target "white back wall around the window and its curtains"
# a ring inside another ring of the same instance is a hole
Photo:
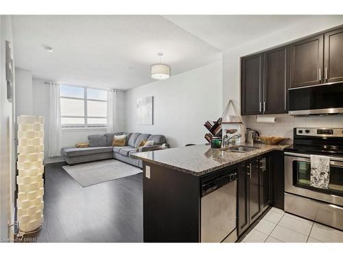
[[[60,161],[61,158],[49,158],[49,85],[45,84],[44,80],[33,79],[32,81],[32,102],[33,114],[45,117],[44,125],[44,145],[45,145],[45,163],[51,161]],[[119,130],[124,130],[125,112],[123,112],[123,95],[122,91],[117,93],[119,105]],[[76,143],[87,142],[88,135],[105,134],[106,130],[95,129],[77,129],[77,130],[62,130],[62,147],[74,147]]]

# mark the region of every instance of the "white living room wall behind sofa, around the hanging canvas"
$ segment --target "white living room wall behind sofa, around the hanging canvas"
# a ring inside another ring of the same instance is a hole
[[[137,99],[154,97],[154,125],[137,125]],[[126,131],[164,134],[171,147],[206,143],[206,120],[222,114],[222,62],[126,91]]]

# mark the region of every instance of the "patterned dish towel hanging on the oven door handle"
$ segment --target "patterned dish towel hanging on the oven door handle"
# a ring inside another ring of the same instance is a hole
[[[330,157],[311,155],[310,185],[316,188],[328,189],[330,178]]]

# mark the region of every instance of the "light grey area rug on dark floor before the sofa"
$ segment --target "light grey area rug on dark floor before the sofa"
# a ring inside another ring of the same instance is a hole
[[[91,186],[141,173],[142,170],[119,160],[99,160],[63,166],[81,186]]]

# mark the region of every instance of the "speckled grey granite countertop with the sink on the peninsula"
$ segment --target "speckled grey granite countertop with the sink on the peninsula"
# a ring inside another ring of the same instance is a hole
[[[200,176],[269,151],[283,150],[289,145],[254,144],[254,146],[259,147],[259,149],[244,153],[214,149],[210,145],[192,145],[189,147],[146,151],[131,154],[131,156],[169,169]]]

